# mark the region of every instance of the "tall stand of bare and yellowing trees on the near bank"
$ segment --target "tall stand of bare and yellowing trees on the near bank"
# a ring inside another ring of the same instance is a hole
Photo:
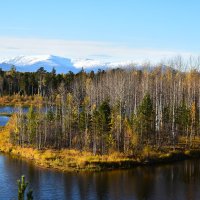
[[[17,113],[12,142],[105,154],[175,146],[184,136],[191,147],[200,134],[200,72],[197,65],[181,70],[180,59],[169,66],[76,75],[14,72],[19,83],[26,75],[36,81],[15,92],[39,94],[44,104],[33,105],[26,115]]]

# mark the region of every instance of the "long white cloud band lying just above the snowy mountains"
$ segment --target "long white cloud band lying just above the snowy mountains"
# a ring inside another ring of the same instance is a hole
[[[158,62],[161,59],[167,59],[177,55],[188,57],[193,53],[131,48],[125,44],[109,42],[0,37],[1,58],[18,55],[43,54],[59,55],[73,59],[96,57],[99,60],[103,59],[104,61],[114,62],[126,60],[133,62],[143,62],[147,60]]]

